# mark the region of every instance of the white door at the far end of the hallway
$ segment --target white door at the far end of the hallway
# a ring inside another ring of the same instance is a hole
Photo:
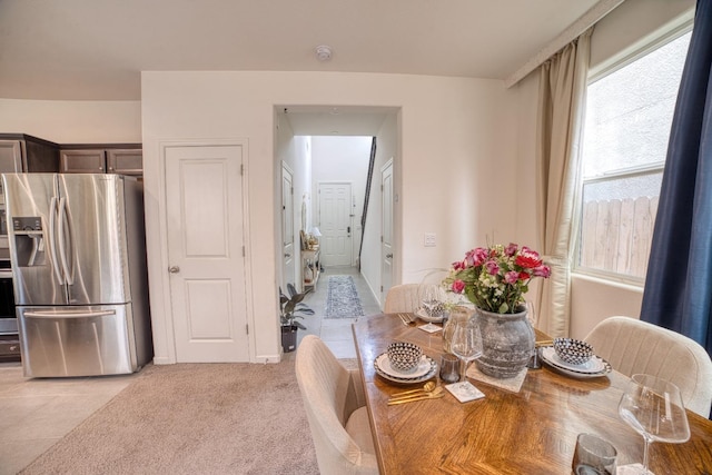
[[[352,265],[352,184],[319,184],[319,246],[324,266]]]

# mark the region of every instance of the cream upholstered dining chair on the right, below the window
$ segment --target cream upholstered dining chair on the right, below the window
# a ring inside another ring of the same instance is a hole
[[[584,338],[619,373],[674,383],[686,408],[704,417],[712,406],[712,360],[692,338],[631,317],[609,317]]]

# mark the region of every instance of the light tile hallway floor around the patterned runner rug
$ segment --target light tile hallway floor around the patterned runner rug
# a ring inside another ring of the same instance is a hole
[[[301,323],[307,330],[299,330],[298,340],[305,335],[316,335],[320,337],[337,358],[355,358],[356,347],[352,334],[352,324],[355,318],[324,318],[326,314],[326,298],[328,295],[329,276],[348,275],[354,278],[356,290],[360,299],[364,315],[375,315],[380,313],[380,307],[376,301],[366,280],[356,267],[327,267],[324,269],[316,285],[316,290],[309,293],[304,303],[312,307],[315,315],[305,317]],[[286,356],[286,355],[285,355]]]

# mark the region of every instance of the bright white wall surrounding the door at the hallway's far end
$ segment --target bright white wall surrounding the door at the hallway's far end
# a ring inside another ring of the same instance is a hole
[[[349,182],[355,206],[352,227],[352,266],[356,265],[360,245],[360,219],[364,214],[364,195],[370,160],[372,137],[312,137],[312,212],[314,226],[319,222],[319,184]],[[328,265],[322,257],[324,265]]]

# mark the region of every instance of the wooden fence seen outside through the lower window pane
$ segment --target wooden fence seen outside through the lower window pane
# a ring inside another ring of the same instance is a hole
[[[584,204],[581,266],[645,277],[657,197]]]

